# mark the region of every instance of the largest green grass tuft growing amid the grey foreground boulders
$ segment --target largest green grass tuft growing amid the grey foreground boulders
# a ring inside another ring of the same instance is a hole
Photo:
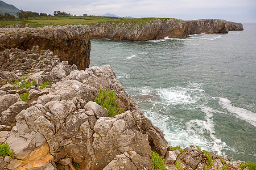
[[[100,94],[98,94],[95,101],[102,108],[108,110],[109,117],[114,117],[117,114],[123,113],[123,110],[125,109],[117,104],[117,99],[118,96],[115,95],[114,91],[100,90]]]

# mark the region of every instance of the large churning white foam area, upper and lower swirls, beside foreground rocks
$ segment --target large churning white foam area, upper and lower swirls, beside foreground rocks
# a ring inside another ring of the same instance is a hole
[[[213,99],[205,94],[201,89],[200,83],[189,83],[187,88],[172,87],[172,88],[133,88],[136,94],[141,96],[148,94],[155,94],[159,96],[158,100],[144,100],[139,103],[147,104],[144,109],[146,117],[150,118],[152,123],[160,128],[165,134],[164,138],[168,141],[168,145],[188,147],[190,145],[197,145],[203,150],[213,151],[216,154],[225,155],[224,150],[234,150],[226,145],[225,142],[217,138],[214,129],[214,113],[220,113],[212,108],[205,107],[204,104],[200,107],[201,114],[205,114],[203,120],[194,119],[188,121],[186,124],[177,124],[179,118],[172,116],[170,108],[172,107],[185,107],[191,109],[191,105],[198,107],[201,99]],[[216,100],[216,99],[214,99]],[[171,107],[170,107],[171,105]],[[180,106],[177,106],[180,105]],[[162,114],[163,113],[163,114]]]

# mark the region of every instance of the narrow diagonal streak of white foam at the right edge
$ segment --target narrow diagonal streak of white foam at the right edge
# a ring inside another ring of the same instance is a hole
[[[226,98],[220,97],[219,99],[219,103],[223,108],[227,109],[231,113],[235,113],[237,118],[241,118],[242,120],[245,120],[246,122],[249,122],[249,124],[256,127],[256,113],[243,108],[235,107],[231,104],[231,101]]]

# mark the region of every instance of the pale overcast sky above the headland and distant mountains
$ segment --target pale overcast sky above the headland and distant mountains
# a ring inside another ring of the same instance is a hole
[[[256,0],[2,0],[24,11],[65,11],[73,15],[164,17],[183,20],[225,19],[256,23]]]

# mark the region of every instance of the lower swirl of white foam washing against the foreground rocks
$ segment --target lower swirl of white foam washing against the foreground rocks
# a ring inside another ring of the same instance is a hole
[[[225,150],[233,150],[222,142],[221,139],[215,137],[214,123],[212,120],[211,109],[202,108],[205,112],[205,120],[191,120],[185,124],[187,129],[181,128],[179,125],[170,126],[170,114],[159,116],[159,112],[154,112],[154,107],[149,110],[144,110],[144,113],[152,123],[159,127],[165,134],[164,138],[168,141],[168,145],[188,147],[190,145],[197,145],[203,150],[214,151],[219,155],[225,155]],[[205,133],[210,134],[211,139],[204,137]]]

